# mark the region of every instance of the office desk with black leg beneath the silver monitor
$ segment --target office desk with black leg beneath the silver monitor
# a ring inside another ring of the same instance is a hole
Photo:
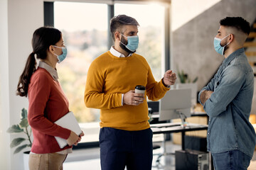
[[[185,149],[185,132],[208,129],[208,125],[195,123],[188,123],[186,127],[181,127],[181,123],[156,123],[150,126],[153,134],[181,132],[181,147],[183,150]]]

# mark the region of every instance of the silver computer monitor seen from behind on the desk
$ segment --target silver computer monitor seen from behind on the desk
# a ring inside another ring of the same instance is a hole
[[[171,89],[159,101],[159,121],[191,116],[191,89]]]

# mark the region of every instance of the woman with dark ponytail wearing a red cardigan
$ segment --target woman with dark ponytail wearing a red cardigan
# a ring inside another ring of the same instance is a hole
[[[18,96],[28,96],[28,123],[33,131],[29,169],[63,169],[72,145],[81,140],[75,132],[54,123],[69,112],[68,98],[61,89],[56,70],[67,49],[60,30],[48,27],[33,33],[32,47],[16,92]],[[40,60],[37,69],[35,57]],[[67,140],[68,145],[61,149],[55,136]]]

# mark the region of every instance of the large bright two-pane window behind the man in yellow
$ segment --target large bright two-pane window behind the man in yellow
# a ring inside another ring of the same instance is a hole
[[[70,111],[85,132],[82,142],[98,141],[100,110],[85,107],[84,91],[90,63],[110,50],[107,14],[107,4],[54,2],[54,26],[63,33],[68,48],[67,58],[57,66],[58,74]],[[139,22],[137,53],[146,58],[154,78],[159,81],[164,68],[164,6],[114,4],[114,15],[118,14],[132,16]]]

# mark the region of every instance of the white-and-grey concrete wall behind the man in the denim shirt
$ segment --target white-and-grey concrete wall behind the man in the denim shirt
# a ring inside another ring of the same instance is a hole
[[[188,73],[191,79],[198,77],[198,89],[201,89],[224,60],[224,57],[218,55],[213,47],[213,38],[218,32],[220,19],[226,16],[241,16],[252,23],[256,18],[256,1],[172,0],[171,2],[172,68],[176,70],[178,66],[180,70],[183,69]]]

